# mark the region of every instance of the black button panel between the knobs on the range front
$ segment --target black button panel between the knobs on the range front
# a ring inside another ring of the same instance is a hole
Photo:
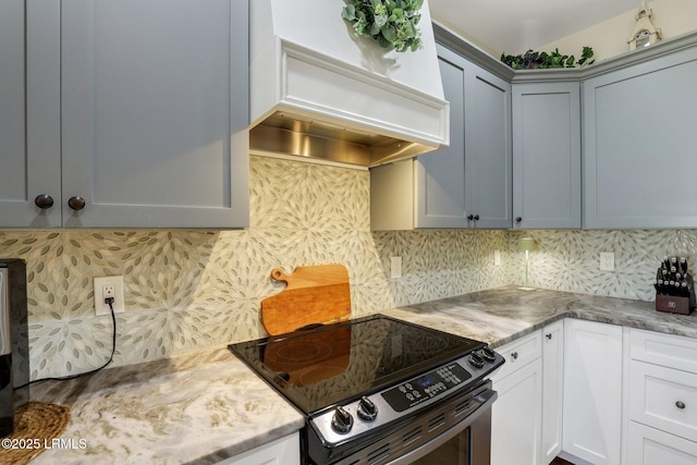
[[[469,372],[458,364],[452,363],[384,391],[381,395],[395,412],[404,412],[455,388],[469,378],[472,378]]]

